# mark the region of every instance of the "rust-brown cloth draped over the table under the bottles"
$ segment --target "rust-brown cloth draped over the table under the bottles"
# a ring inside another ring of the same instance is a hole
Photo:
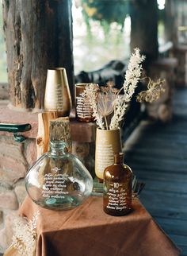
[[[176,256],[177,246],[133,200],[129,215],[114,217],[102,210],[102,198],[90,196],[78,208],[51,211],[26,197],[20,215],[37,221],[36,256]]]

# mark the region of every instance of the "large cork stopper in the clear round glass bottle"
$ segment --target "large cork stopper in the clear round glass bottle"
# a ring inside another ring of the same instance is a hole
[[[50,141],[63,141],[67,143],[68,151],[71,151],[71,127],[70,118],[63,117],[51,120],[49,123]]]

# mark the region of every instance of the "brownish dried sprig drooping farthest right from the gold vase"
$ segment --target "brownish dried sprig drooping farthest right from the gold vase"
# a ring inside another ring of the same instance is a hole
[[[149,77],[149,83],[147,85],[147,91],[141,91],[137,95],[136,100],[139,103],[147,102],[153,103],[160,98],[162,93],[165,91],[164,83],[165,80],[158,79],[156,82],[151,80]]]

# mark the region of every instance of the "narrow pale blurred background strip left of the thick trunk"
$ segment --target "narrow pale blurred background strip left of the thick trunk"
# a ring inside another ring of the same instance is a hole
[[[2,22],[2,2],[0,2],[0,82],[7,82],[6,72],[6,44],[4,40]]]

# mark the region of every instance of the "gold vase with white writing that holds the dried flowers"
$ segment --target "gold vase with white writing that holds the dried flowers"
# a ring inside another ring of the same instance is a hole
[[[97,128],[95,145],[95,174],[100,180],[103,180],[105,168],[109,165],[113,165],[114,155],[121,151],[120,129],[101,130]]]

